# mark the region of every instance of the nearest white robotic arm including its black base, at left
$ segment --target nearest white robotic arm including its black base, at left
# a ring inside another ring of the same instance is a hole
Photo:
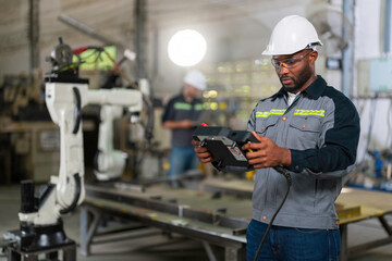
[[[68,49],[60,53],[68,55]],[[38,192],[33,182],[22,182],[21,231],[14,236],[26,252],[74,244],[63,232],[61,215],[74,210],[85,197],[82,109],[100,104],[138,113],[143,97],[133,89],[88,89],[88,80],[79,78],[77,72],[65,72],[46,78],[46,104],[60,127],[60,171]]]

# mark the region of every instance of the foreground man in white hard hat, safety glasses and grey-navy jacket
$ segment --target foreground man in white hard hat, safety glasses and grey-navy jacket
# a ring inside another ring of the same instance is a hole
[[[272,55],[282,88],[257,103],[247,130],[259,142],[243,146],[257,169],[247,260],[338,260],[334,201],[342,177],[354,167],[359,117],[354,104],[316,74],[317,46],[322,44],[311,23],[290,15],[275,25],[262,52]],[[193,144],[201,162],[212,161],[206,147]],[[287,189],[274,166],[289,171],[292,186],[266,234]]]

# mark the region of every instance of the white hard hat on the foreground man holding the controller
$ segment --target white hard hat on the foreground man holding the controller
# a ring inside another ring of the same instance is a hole
[[[270,41],[261,54],[293,54],[317,45],[322,46],[313,24],[299,15],[289,15],[275,25]]]

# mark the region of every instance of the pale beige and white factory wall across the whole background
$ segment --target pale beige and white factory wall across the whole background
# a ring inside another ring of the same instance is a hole
[[[1,0],[0,10],[0,82],[5,74],[20,74],[29,72],[29,49],[28,49],[28,1]],[[293,3],[296,4],[293,4]],[[238,10],[240,15],[234,20],[210,20],[198,21],[197,23],[183,23],[180,26],[162,25],[154,15],[148,17],[147,51],[148,71],[152,79],[155,91],[163,98],[180,91],[182,77],[187,69],[181,69],[169,61],[167,54],[167,42],[170,36],[182,27],[191,27],[205,35],[208,41],[208,50],[205,60],[198,65],[206,67],[221,61],[241,60],[259,57],[268,44],[270,33],[274,24],[284,15],[296,13],[308,16],[311,13],[330,7],[340,8],[342,1],[282,1],[265,12],[249,13],[246,10]],[[71,28],[60,22],[60,14],[69,15],[81,23],[97,29],[98,33],[110,37],[112,40],[123,42],[133,48],[135,36],[134,28],[134,1],[77,1],[77,0],[40,0],[39,1],[39,47],[40,67],[42,72],[50,70],[50,64],[45,61],[50,51],[58,44],[58,37],[63,37],[64,42],[72,48],[96,45],[101,42],[89,36]],[[291,4],[289,4],[291,3]],[[384,0],[357,0],[355,1],[355,64],[358,60],[384,57],[382,47],[382,28]],[[242,12],[242,13],[241,13]],[[152,22],[151,22],[152,21]],[[156,45],[156,47],[154,46]],[[156,64],[155,64],[156,63]],[[130,65],[128,65],[130,66]],[[126,69],[131,74],[134,67]],[[341,89],[340,71],[326,70],[323,57],[320,55],[317,71],[335,88]],[[357,91],[357,76],[368,72],[356,72],[354,75],[354,96]],[[1,83],[0,83],[1,84]],[[363,139],[366,140],[369,124],[372,122],[371,146],[387,147],[391,142],[388,125],[388,113],[375,113],[371,121],[371,113],[388,112],[390,100],[379,100],[376,105],[370,101],[354,102],[363,108],[362,124]],[[376,109],[375,109],[376,108]],[[389,139],[388,139],[389,138]],[[365,142],[365,141],[364,141]],[[364,145],[363,145],[364,146]],[[360,157],[359,157],[360,158]]]

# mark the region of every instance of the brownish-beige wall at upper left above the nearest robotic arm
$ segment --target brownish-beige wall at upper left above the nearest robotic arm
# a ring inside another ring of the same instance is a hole
[[[0,10],[0,78],[5,74],[29,73],[28,47],[28,1],[1,1]],[[46,58],[59,44],[58,38],[72,48],[102,46],[102,42],[59,21],[68,15],[96,29],[113,41],[133,47],[134,15],[133,1],[39,1],[39,64],[44,72],[51,69]],[[1,82],[0,80],[0,82]]]

